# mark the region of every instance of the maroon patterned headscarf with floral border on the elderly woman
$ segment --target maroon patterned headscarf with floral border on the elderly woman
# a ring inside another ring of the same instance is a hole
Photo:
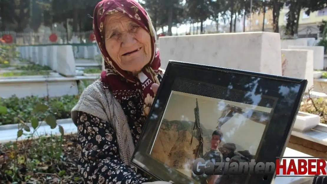
[[[109,56],[105,47],[105,17],[121,12],[132,21],[140,25],[151,36],[152,55],[149,63],[142,69],[138,76],[122,70]],[[131,96],[141,96],[144,102],[143,115],[147,115],[153,102],[154,93],[151,89],[153,83],[159,84],[157,74],[161,63],[159,51],[156,47],[157,35],[146,10],[135,0],[102,0],[94,10],[93,30],[96,42],[105,59],[105,71],[101,73],[101,80],[110,88],[113,96],[121,103]],[[140,95],[140,92],[143,94]]]

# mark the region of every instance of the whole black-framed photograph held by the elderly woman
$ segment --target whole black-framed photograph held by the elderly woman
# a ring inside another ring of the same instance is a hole
[[[274,175],[195,175],[198,158],[275,162],[307,81],[169,61],[132,164],[176,184],[270,184]]]

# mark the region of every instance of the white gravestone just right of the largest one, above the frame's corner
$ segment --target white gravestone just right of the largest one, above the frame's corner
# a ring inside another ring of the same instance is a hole
[[[282,49],[283,75],[308,80],[305,92],[313,86],[313,51]]]

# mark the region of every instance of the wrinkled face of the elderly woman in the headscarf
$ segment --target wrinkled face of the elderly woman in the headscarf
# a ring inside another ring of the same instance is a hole
[[[123,13],[108,15],[104,27],[109,56],[122,70],[138,74],[151,59],[150,34]]]

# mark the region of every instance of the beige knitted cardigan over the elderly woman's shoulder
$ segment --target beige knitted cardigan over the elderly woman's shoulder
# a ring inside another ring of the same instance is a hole
[[[82,111],[109,122],[117,134],[120,158],[125,164],[130,163],[134,152],[134,143],[127,117],[120,103],[109,90],[104,90],[100,80],[88,86],[72,109],[73,122],[77,123],[77,111]]]

